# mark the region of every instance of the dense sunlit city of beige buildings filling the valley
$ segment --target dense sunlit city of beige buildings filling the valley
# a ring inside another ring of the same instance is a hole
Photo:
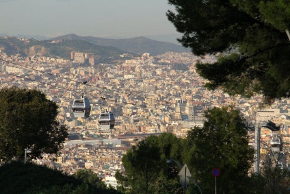
[[[127,55],[124,53],[121,58]],[[70,174],[77,169],[92,169],[106,184],[116,188],[114,173],[123,171],[122,155],[132,145],[163,132],[185,137],[190,128],[203,125],[205,110],[222,106],[235,106],[252,126],[268,120],[281,126],[279,132],[261,128],[262,154],[275,133],[283,142],[282,154],[289,151],[290,100],[281,99],[261,110],[262,97],[230,97],[222,90],[207,90],[206,80],[198,75],[195,64],[212,63],[215,56],[199,58],[192,53],[168,52],[153,57],[144,53],[110,64],[100,64],[99,56],[77,51],[71,53],[70,60],[7,56],[1,50],[0,56],[1,88],[41,90],[60,107],[57,119],[68,128],[62,155],[57,161],[46,157],[36,160],[40,165]],[[90,99],[90,117],[75,118],[72,101],[84,93]],[[104,109],[114,113],[113,130],[101,130],[98,125],[98,115]],[[254,147],[254,130],[249,130],[249,135]],[[283,167],[289,168],[286,154],[284,161]]]

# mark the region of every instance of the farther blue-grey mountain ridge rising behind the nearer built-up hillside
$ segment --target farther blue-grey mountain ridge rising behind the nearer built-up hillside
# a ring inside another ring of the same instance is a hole
[[[157,40],[151,40],[144,36],[125,39],[110,39],[110,38],[97,38],[93,36],[77,36],[76,34],[67,34],[64,36],[57,36],[52,39],[86,40],[94,45],[105,47],[116,47],[117,49],[120,49],[122,51],[136,53],[138,55],[142,55],[143,53],[150,53],[151,56],[158,56],[169,51],[176,53],[190,52],[190,49],[187,49],[180,45],[161,42]]]

